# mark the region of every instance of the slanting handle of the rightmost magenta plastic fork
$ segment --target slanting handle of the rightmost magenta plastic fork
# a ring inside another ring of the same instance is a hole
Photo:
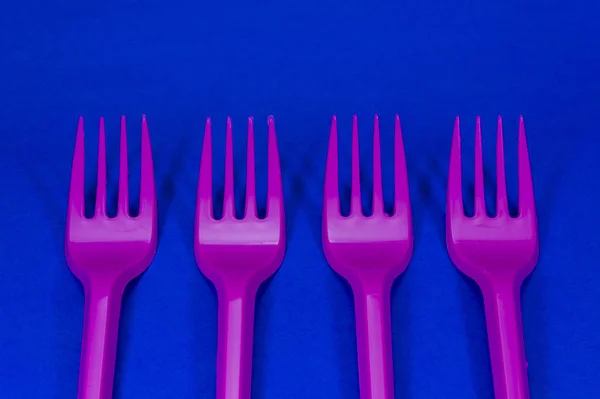
[[[520,285],[492,285],[483,291],[483,300],[495,397],[529,399]]]

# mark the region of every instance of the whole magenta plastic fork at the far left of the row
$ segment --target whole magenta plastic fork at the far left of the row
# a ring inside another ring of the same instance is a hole
[[[106,138],[100,119],[96,208],[84,213],[84,134],[79,119],[67,211],[67,263],[85,290],[79,399],[112,398],[121,299],[126,285],[141,274],[156,252],[157,217],[152,150],[142,117],[139,215],[129,215],[127,137],[121,118],[118,213],[106,214]]]

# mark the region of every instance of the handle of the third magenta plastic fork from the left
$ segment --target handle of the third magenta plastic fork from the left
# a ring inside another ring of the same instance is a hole
[[[393,399],[391,287],[354,288],[361,399]]]

